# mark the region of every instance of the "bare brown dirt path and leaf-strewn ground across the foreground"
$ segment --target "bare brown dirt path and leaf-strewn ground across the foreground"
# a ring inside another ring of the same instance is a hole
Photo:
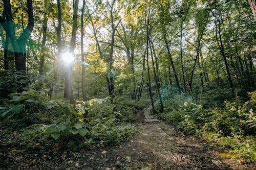
[[[129,141],[100,149],[57,153],[1,149],[0,169],[256,169],[220,156],[209,142],[184,135],[172,125],[145,123],[143,111],[136,120],[139,132]]]

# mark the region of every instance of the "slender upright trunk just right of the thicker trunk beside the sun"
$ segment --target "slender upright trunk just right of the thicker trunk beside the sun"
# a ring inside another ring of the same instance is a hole
[[[82,1],[82,14],[81,14],[81,61],[84,62],[84,53],[83,53],[83,15],[84,15],[84,8],[85,8],[86,1]],[[86,94],[86,82],[84,79],[84,72],[85,68],[82,64],[82,100],[87,101],[87,94]],[[78,89],[79,90],[79,89]]]

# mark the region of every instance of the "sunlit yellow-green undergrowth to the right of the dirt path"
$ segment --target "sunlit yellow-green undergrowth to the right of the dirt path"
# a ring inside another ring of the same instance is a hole
[[[256,163],[256,91],[249,92],[247,99],[235,95],[229,100],[227,96],[232,94],[227,89],[206,93],[209,96],[198,101],[183,95],[165,100],[164,113],[159,116],[175,124],[178,130],[217,143],[216,149],[227,150],[233,158]],[[221,99],[223,104],[218,104]]]

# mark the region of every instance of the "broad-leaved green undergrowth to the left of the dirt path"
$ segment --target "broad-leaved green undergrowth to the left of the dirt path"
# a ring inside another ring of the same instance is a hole
[[[10,98],[0,107],[0,126],[22,132],[6,144],[39,150],[75,151],[126,140],[137,132],[130,124],[134,114],[147,103],[123,100],[113,105],[105,98],[77,101],[73,106],[49,100],[40,91],[12,93]]]

